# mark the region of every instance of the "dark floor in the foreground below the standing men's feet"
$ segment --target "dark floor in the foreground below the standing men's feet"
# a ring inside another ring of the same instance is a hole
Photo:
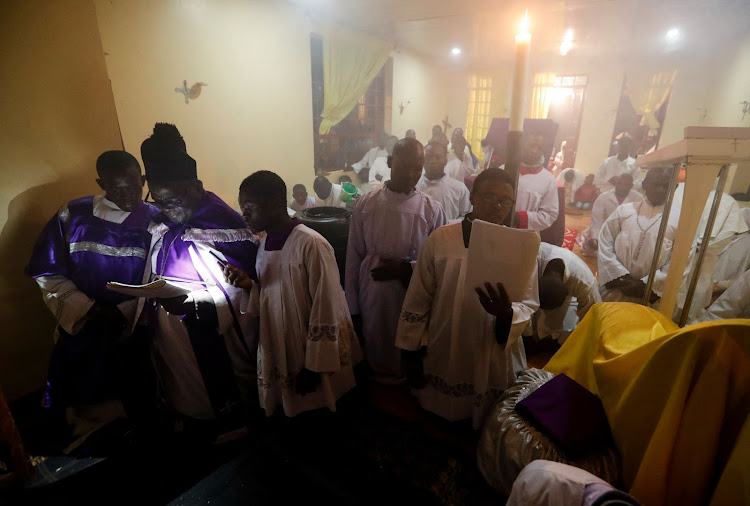
[[[14,406],[25,440],[32,401]],[[476,466],[477,437],[406,391],[372,387],[338,413],[260,419],[222,446],[128,448],[52,485],[0,491],[0,504],[503,504]]]

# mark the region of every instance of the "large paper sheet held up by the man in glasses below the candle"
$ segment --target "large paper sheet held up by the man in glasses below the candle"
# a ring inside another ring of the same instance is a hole
[[[539,235],[474,220],[466,262],[466,294],[502,283],[511,302],[523,302],[539,252]]]

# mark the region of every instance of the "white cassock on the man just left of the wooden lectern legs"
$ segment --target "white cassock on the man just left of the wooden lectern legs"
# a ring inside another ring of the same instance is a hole
[[[599,234],[599,293],[603,301],[641,303],[640,297],[628,297],[620,290],[610,290],[604,285],[626,274],[648,282],[663,211],[663,205],[654,207],[644,198],[637,203],[621,205],[604,222]],[[670,213],[652,288],[660,297],[667,279],[678,221],[679,213]]]

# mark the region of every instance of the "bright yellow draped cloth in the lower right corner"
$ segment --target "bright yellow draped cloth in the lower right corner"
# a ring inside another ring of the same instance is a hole
[[[545,369],[601,398],[644,505],[750,504],[750,320],[596,304]]]

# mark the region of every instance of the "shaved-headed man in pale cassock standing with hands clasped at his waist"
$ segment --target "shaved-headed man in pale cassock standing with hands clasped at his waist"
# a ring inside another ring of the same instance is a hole
[[[375,378],[390,383],[404,375],[395,340],[411,263],[446,223],[440,204],[415,188],[424,156],[418,140],[398,141],[388,157],[390,181],[359,199],[349,225],[346,299]]]

